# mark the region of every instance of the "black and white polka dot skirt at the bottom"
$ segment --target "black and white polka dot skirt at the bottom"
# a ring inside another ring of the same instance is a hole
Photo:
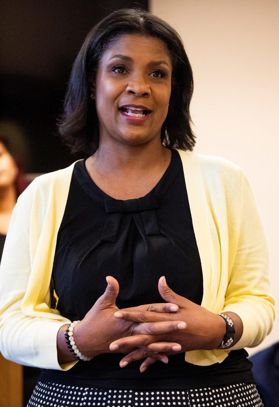
[[[188,390],[92,389],[38,382],[27,407],[264,407],[254,384]]]

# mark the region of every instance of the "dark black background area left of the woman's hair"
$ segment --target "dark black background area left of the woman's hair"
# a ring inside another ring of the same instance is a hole
[[[1,0],[0,133],[26,171],[63,168],[72,155],[58,135],[72,63],[91,28],[113,10],[148,1]]]

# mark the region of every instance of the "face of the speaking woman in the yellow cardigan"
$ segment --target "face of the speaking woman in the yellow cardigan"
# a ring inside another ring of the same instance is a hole
[[[123,35],[102,55],[90,88],[96,99],[100,142],[145,144],[161,137],[168,113],[172,62],[157,38]]]

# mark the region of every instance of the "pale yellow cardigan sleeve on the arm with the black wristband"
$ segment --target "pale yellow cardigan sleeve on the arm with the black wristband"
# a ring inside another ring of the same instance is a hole
[[[275,301],[270,295],[268,245],[262,217],[242,172],[242,208],[238,243],[225,294],[222,312],[232,311],[243,323],[243,334],[231,349],[253,347],[270,333]]]

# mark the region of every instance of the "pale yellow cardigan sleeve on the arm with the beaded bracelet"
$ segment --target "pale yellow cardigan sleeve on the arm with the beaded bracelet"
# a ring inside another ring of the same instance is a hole
[[[50,289],[41,308],[29,305],[30,313],[22,311],[22,303],[32,274],[30,218],[33,204],[32,185],[19,197],[13,210],[0,266],[0,351],[7,359],[39,368],[68,370],[76,362],[59,365],[57,332],[68,319],[50,309]],[[39,230],[37,231],[39,233]],[[44,279],[44,265],[41,276]],[[41,317],[44,312],[44,317]],[[40,315],[40,316],[35,316]]]

